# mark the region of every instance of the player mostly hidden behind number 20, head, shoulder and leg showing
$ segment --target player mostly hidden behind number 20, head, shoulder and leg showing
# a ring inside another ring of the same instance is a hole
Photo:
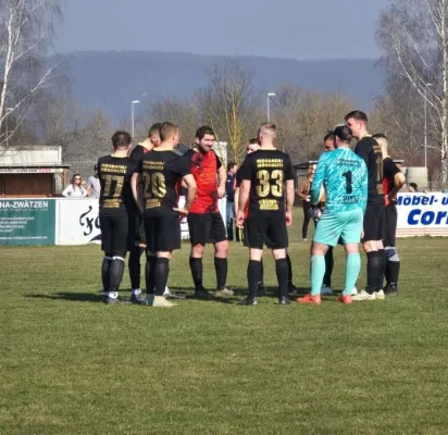
[[[160,145],[160,127],[161,123],[152,124],[149,128],[148,137],[132,150],[130,160],[135,163],[139,163],[144,156],[151,151],[154,146]],[[134,217],[134,233],[135,233],[135,244],[133,249],[129,252],[129,277],[130,277],[130,287],[135,299],[141,299],[140,290],[140,257],[146,248],[146,238],[145,238],[145,228],[142,216],[138,208],[135,208],[135,217]],[[147,289],[148,293],[148,289]]]

